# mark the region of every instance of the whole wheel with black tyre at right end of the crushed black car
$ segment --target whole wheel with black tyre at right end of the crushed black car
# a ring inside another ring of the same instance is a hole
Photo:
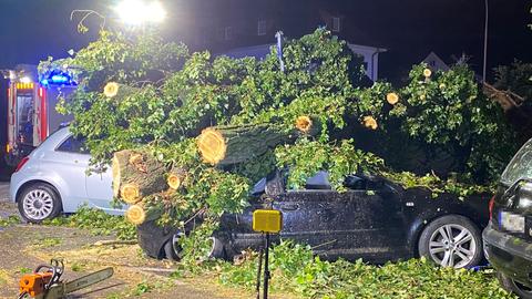
[[[423,229],[418,254],[439,266],[470,268],[482,260],[482,239],[479,228],[460,215],[437,218]]]

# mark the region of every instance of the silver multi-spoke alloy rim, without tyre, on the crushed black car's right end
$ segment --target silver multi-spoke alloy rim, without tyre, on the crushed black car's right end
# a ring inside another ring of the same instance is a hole
[[[443,225],[430,237],[429,254],[432,260],[443,267],[462,268],[474,258],[477,241],[466,227]]]

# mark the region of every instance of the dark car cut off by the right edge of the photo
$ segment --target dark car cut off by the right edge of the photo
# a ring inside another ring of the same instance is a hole
[[[490,200],[484,251],[503,287],[532,298],[532,140],[515,154]]]

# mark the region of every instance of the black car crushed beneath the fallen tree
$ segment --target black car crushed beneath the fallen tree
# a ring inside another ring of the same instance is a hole
[[[483,259],[487,197],[460,200],[442,194],[434,199],[428,189],[405,189],[382,177],[365,175],[346,177],[348,190],[339,193],[331,189],[327,177],[327,173],[318,173],[303,190],[285,190],[280,175],[263,178],[254,188],[250,207],[242,214],[223,215],[212,254],[231,258],[245,248],[259,248],[263,241],[252,230],[252,215],[255,209],[273,207],[283,213],[284,227],[277,239],[308,244],[326,259],[362,258],[382,264],[427,256],[457,268]],[[276,195],[260,196],[265,193]],[[140,245],[152,257],[178,257],[178,237],[175,229],[153,223],[139,227]]]

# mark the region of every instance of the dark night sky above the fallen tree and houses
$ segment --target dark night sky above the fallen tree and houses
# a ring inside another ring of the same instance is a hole
[[[231,16],[245,6],[253,10],[254,0],[211,0],[219,3],[227,1],[217,13]],[[168,17],[162,24],[166,39],[180,41],[176,32],[183,32],[185,18],[195,18],[201,10],[197,3],[208,4],[206,0],[161,1],[168,10]],[[239,3],[244,3],[239,6]],[[265,1],[260,1],[265,2]],[[351,0],[313,1],[316,9],[339,10],[346,14],[347,22],[356,28],[352,32],[355,43],[383,47],[389,52],[381,55],[381,68],[393,73],[392,69],[408,66],[423,59],[430,51],[437,52],[444,61],[462,52],[471,56],[471,64],[478,71],[481,65],[483,39],[483,0]],[[70,21],[74,9],[93,9],[106,16],[106,22],[117,25],[113,20],[111,7],[116,1],[108,0],[0,0],[0,69],[18,63],[38,64],[49,55],[62,58],[69,49],[80,49],[95,38],[96,17],[91,17],[88,34],[76,32],[79,18]],[[285,18],[289,18],[289,28],[283,31],[287,35],[305,32],[298,16],[300,8],[308,1],[273,1]],[[510,63],[515,58],[532,62],[532,23],[530,0],[490,0],[490,54],[489,66]],[[259,6],[257,6],[259,8]],[[177,30],[180,29],[180,30]],[[274,41],[272,37],[272,42]],[[241,41],[243,45],[247,41]],[[248,44],[252,45],[252,44]],[[393,68],[392,68],[393,66]],[[385,70],[385,73],[387,72]]]

